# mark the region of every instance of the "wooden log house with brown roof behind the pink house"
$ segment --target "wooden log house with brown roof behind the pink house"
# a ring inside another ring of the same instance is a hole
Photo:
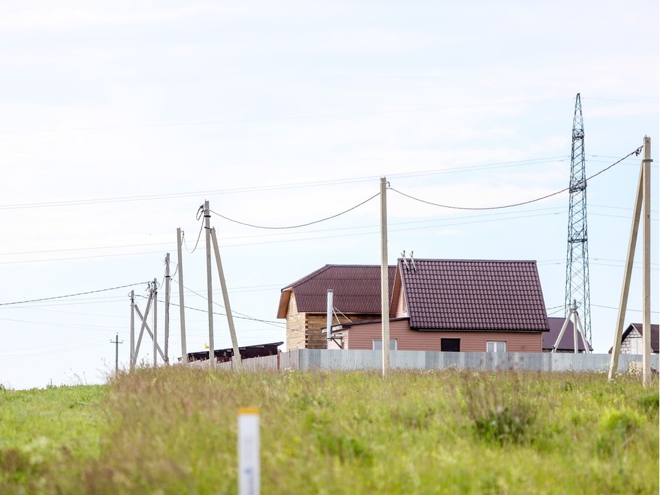
[[[389,270],[390,294],[395,270]],[[338,324],[380,318],[380,265],[325,265],[282,289],[277,317],[287,320],[287,351],[327,349],[321,329],[327,327],[329,289]]]

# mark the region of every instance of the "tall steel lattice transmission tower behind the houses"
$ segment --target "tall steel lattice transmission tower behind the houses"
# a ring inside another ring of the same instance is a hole
[[[591,307],[589,305],[589,250],[586,234],[586,172],[584,168],[584,123],[580,93],[575,98],[571,181],[569,183],[569,243],[566,252],[565,314],[577,301],[582,316],[584,336],[591,343]]]

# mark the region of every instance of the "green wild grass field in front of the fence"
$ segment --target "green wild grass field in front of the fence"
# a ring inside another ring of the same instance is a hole
[[[600,374],[140,369],[0,390],[0,493],[235,494],[256,406],[263,494],[657,494],[658,403]]]

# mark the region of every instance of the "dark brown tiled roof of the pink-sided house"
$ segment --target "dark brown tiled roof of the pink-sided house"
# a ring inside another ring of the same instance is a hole
[[[408,261],[410,265],[410,261]],[[410,328],[548,331],[536,261],[399,259]]]

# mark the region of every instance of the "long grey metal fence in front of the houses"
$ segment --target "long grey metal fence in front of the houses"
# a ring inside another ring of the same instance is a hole
[[[478,371],[588,371],[606,373],[610,354],[575,353],[466,353],[437,351],[391,351],[392,369],[474,369]],[[628,371],[631,363],[641,362],[641,355],[621,354],[619,373]],[[232,369],[231,362],[218,364],[219,369]],[[380,370],[382,351],[297,349],[243,360],[249,371],[292,369],[296,371]],[[651,355],[651,368],[658,370],[658,355]]]

